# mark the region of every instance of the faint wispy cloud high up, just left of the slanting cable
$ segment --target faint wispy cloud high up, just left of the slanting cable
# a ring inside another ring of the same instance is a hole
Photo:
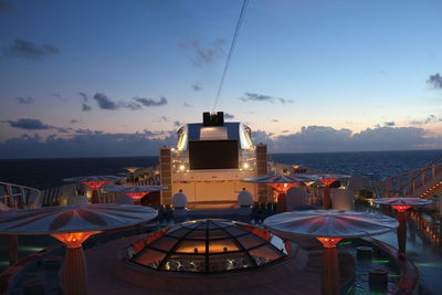
[[[192,65],[202,67],[225,56],[225,52],[223,50],[224,44],[224,40],[218,39],[206,48],[203,48],[198,41],[178,43],[178,48],[190,50],[192,53],[192,56],[190,57]]]

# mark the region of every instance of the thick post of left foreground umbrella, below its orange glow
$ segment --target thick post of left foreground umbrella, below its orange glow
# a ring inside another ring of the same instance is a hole
[[[87,294],[87,266],[83,246],[66,247],[61,278],[64,294]]]

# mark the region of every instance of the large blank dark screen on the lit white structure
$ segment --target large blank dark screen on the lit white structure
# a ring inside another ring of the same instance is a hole
[[[238,169],[238,140],[189,141],[190,169]]]

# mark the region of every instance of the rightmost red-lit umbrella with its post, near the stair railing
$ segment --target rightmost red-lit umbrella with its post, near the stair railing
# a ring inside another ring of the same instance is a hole
[[[425,206],[431,203],[431,200],[420,199],[420,198],[380,198],[372,200],[373,203],[391,206],[398,213],[396,218],[399,221],[398,228],[398,247],[400,253],[406,253],[407,251],[407,215],[406,211],[413,206]]]

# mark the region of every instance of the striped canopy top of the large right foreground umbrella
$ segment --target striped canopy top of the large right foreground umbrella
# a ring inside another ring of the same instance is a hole
[[[308,210],[272,215],[264,220],[264,225],[290,240],[299,235],[338,239],[377,235],[394,230],[399,223],[378,213]]]

